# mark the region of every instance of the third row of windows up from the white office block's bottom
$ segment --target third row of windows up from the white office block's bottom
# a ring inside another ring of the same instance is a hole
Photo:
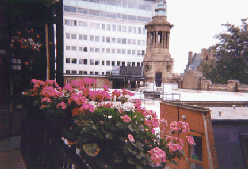
[[[77,51],[77,46],[66,46],[66,50]],[[79,51],[88,52],[87,47],[79,47]],[[102,48],[102,53],[112,53],[112,54],[128,54],[128,55],[145,55],[145,50],[131,50],[131,49],[110,49],[110,48]],[[100,53],[100,48],[90,48],[90,52]]]

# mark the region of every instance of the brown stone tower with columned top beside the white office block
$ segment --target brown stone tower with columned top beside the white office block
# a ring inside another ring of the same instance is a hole
[[[155,16],[146,24],[147,48],[143,61],[145,83],[162,87],[172,79],[173,59],[169,53],[171,25],[166,17],[166,2],[160,1],[155,8]],[[154,84],[155,83],[155,84]]]

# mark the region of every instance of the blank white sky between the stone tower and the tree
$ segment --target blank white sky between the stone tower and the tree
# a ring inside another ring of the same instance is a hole
[[[241,25],[241,18],[248,18],[248,0],[167,0],[174,72],[184,72],[189,51],[200,53],[218,43],[213,36],[225,30],[221,24]]]

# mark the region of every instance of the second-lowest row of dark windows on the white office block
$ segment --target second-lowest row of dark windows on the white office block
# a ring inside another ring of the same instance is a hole
[[[89,61],[89,63],[88,63]],[[66,58],[66,63],[77,64],[77,58]],[[106,65],[106,66],[126,66],[125,61],[105,61],[105,60],[95,60],[95,59],[79,59],[79,64],[83,65]],[[127,62],[127,66],[143,66],[143,62]]]

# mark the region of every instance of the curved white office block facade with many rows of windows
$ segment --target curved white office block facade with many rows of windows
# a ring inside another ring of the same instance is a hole
[[[145,24],[158,2],[63,0],[63,75],[119,75],[120,66],[142,67]],[[65,80],[67,82],[68,80]]]

